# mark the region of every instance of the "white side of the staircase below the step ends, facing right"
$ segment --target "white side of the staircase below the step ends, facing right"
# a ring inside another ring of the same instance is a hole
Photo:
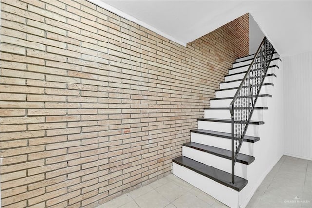
[[[283,156],[283,69],[279,63],[272,98],[268,99],[269,109],[263,111],[265,124],[259,126],[260,140],[254,143],[255,161],[248,166],[248,184],[239,192],[238,207],[246,207],[264,178]]]

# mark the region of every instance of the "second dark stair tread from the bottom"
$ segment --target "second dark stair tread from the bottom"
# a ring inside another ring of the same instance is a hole
[[[232,151],[227,149],[218,148],[215,146],[203,145],[196,142],[188,142],[184,143],[183,146],[187,146],[193,149],[197,149],[199,151],[207,152],[209,154],[213,154],[228,160],[231,160]],[[254,162],[254,157],[245,154],[238,154],[236,162],[249,165]]]

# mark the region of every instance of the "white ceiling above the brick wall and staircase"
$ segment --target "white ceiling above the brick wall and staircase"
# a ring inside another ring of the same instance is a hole
[[[250,13],[282,56],[312,51],[312,1],[89,0],[186,45]]]

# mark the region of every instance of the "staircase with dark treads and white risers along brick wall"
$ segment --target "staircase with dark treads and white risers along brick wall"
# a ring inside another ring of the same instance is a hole
[[[204,118],[197,119],[197,129],[191,130],[191,142],[182,146],[182,156],[173,160],[172,172],[229,207],[245,207],[264,177],[282,156],[280,145],[268,132],[272,131],[273,101],[281,59],[273,54],[243,143],[238,151],[232,183],[232,127],[229,105],[249,69],[254,55],[236,59],[210,108],[204,108]],[[242,105],[242,109],[251,108]],[[265,122],[269,121],[269,126]],[[275,139],[276,140],[276,139]],[[266,153],[266,146],[269,153]],[[236,147],[237,148],[237,147]],[[278,147],[276,147],[278,149]],[[272,151],[272,152],[271,152]]]

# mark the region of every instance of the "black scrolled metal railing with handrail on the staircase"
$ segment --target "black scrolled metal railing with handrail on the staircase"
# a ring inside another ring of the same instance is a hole
[[[264,37],[233,100],[230,103],[232,126],[232,183],[235,183],[235,163],[247,127],[254,112],[261,86],[267,74],[275,49]]]

